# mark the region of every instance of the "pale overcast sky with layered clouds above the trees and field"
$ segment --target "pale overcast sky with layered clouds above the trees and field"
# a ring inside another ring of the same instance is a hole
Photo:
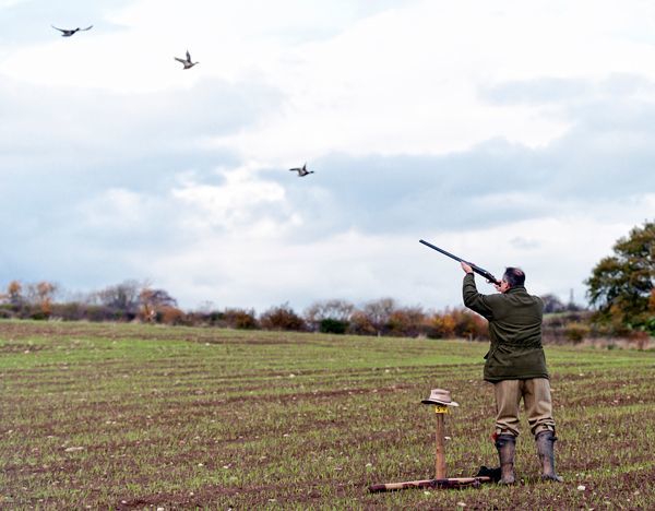
[[[655,217],[655,3],[0,0],[0,213],[2,288],[460,306],[424,238],[583,302]]]

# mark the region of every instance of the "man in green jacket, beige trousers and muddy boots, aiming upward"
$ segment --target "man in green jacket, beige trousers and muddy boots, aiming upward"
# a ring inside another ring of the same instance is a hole
[[[485,380],[493,384],[496,431],[493,438],[501,467],[501,484],[513,484],[514,452],[519,436],[519,405],[525,406],[527,421],[541,462],[541,479],[562,482],[555,472],[555,419],[546,357],[541,346],[544,302],[525,289],[525,273],[508,268],[499,292],[481,295],[472,268],[465,262],[464,305],[489,321],[489,352],[485,355]]]

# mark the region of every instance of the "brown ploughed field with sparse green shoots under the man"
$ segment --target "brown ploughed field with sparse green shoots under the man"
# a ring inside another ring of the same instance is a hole
[[[437,387],[448,475],[497,464],[486,347],[0,321],[0,508],[655,508],[653,350],[547,348],[563,485],[524,423],[517,486],[369,494],[433,477]]]

